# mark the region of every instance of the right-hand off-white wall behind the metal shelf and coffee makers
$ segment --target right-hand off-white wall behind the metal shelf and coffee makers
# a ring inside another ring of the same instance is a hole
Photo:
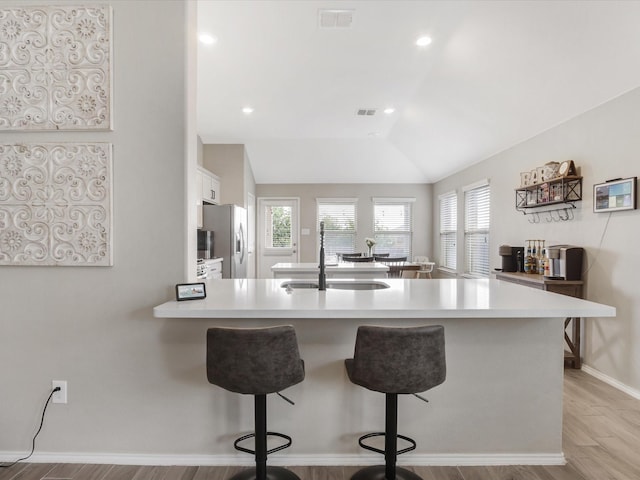
[[[522,113],[526,115],[526,112]],[[587,299],[613,305],[616,318],[587,319],[584,328],[585,363],[635,390],[640,390],[640,211],[593,213],[593,185],[607,179],[640,174],[640,89],[633,90],[507,151],[436,184],[433,188],[434,225],[438,225],[438,195],[480,179],[491,181],[491,267],[500,266],[498,246],[523,245],[545,239],[547,245],[568,243],[586,249]],[[549,161],[572,159],[583,179],[583,201],[575,219],[531,224],[514,208],[514,189],[520,172]],[[463,230],[463,197],[458,197],[459,231]],[[610,215],[610,217],[609,217]],[[458,265],[463,254],[460,233]],[[438,229],[433,233],[439,252]]]

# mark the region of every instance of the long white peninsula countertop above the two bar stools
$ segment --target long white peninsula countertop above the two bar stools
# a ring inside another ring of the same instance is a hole
[[[613,317],[616,309],[495,279],[381,279],[383,290],[295,289],[282,279],[207,280],[207,298],[158,305],[160,318]],[[342,280],[337,280],[342,281]]]

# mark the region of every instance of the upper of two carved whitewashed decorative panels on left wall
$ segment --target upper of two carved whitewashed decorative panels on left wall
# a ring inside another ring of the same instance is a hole
[[[111,9],[0,9],[0,130],[109,130]]]

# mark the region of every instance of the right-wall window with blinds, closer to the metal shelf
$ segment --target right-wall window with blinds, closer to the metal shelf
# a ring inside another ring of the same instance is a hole
[[[468,275],[489,276],[489,200],[487,181],[465,188],[464,250]]]

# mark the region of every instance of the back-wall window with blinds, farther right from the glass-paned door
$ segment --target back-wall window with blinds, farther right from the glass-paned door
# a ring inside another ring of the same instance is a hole
[[[374,198],[374,252],[411,259],[411,204],[415,198]]]

